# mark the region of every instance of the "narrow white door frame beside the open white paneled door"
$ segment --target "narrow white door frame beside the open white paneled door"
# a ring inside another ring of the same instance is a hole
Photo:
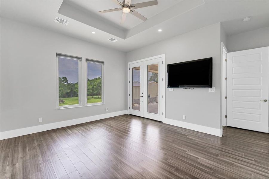
[[[226,58],[223,58],[223,50],[226,51]],[[227,95],[227,53],[227,48],[224,43],[221,42],[221,126],[227,126],[227,118],[225,118],[227,115],[227,101],[225,99],[225,96]]]

